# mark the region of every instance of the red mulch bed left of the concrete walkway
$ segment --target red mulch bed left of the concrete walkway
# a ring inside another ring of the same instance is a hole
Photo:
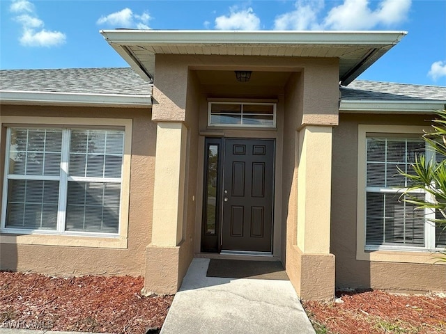
[[[141,277],[0,272],[0,327],[126,334],[153,328],[150,333],[156,333],[173,296],[141,296],[143,285]]]

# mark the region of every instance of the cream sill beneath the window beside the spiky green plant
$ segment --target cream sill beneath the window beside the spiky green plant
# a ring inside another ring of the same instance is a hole
[[[439,248],[438,251],[441,249]],[[412,249],[379,249],[379,250],[357,250],[356,260],[370,262],[401,262],[401,263],[420,263],[420,264],[446,264],[446,262],[436,262],[441,254],[436,250],[420,248]]]

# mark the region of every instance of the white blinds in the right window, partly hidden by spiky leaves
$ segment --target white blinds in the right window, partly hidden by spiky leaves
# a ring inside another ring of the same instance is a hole
[[[422,140],[367,138],[367,244],[424,246],[424,211],[400,198],[401,189],[410,184],[399,169],[410,173],[410,164],[420,153],[424,153]]]

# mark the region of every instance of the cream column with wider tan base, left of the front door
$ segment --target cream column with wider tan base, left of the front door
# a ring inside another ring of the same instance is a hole
[[[146,247],[143,294],[174,294],[182,276],[187,128],[158,122],[153,190],[152,241]]]

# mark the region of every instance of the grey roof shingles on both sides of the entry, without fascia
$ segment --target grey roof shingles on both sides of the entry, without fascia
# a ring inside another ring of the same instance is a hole
[[[152,84],[131,67],[0,70],[0,90],[151,95]],[[341,87],[346,101],[446,101],[446,87],[355,80]]]

